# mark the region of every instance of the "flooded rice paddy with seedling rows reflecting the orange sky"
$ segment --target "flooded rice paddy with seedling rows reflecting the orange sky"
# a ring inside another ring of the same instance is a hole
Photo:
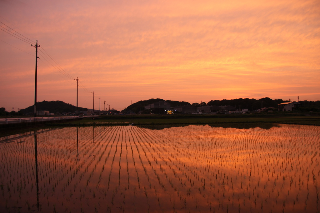
[[[0,212],[318,212],[320,127],[70,127],[0,138]]]

